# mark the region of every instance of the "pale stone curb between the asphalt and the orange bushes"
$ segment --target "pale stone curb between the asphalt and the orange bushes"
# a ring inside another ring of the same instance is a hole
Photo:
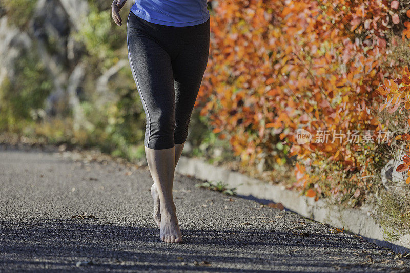
[[[191,175],[207,181],[222,181],[230,188],[236,188],[238,195],[254,197],[282,203],[286,209],[315,221],[342,228],[360,235],[379,246],[388,247],[396,252],[410,252],[410,234],[399,240],[387,242],[383,238],[383,229],[363,209],[345,209],[330,206],[323,200],[301,196],[300,193],[286,190],[283,186],[270,185],[258,179],[250,178],[238,172],[216,167],[200,159],[181,156],[176,172]]]

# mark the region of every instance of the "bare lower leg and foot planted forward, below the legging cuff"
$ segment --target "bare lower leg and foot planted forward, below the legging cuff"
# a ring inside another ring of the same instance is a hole
[[[182,242],[172,196],[175,172],[175,147],[169,149],[150,149],[145,147],[148,167],[156,186],[160,202],[159,237],[167,243]]]

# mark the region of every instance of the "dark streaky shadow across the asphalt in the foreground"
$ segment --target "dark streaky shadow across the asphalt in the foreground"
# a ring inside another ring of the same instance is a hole
[[[159,240],[158,228],[95,223],[98,221],[103,220],[0,221],[0,264],[14,269],[67,270],[75,268],[78,261],[90,261],[92,264],[84,265],[90,270],[230,272],[254,271],[256,265],[271,268],[259,268],[261,272],[297,268],[334,271],[335,268],[354,267],[362,270],[369,266],[360,260],[342,258],[330,264],[327,257],[352,248],[354,239],[343,234],[301,236],[291,230],[264,233],[258,230],[181,229],[185,243],[166,244]],[[376,249],[376,246],[367,247],[366,251]],[[377,269],[392,267],[373,264],[372,270]]]

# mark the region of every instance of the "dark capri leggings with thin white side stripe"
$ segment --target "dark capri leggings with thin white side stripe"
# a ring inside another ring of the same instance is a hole
[[[209,35],[209,19],[174,27],[128,15],[128,58],[147,118],[146,147],[168,149],[187,139],[208,62]]]

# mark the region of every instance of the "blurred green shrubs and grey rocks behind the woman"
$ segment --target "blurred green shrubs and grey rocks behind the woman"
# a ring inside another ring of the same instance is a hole
[[[124,21],[132,4],[121,10]],[[4,141],[94,147],[144,164],[145,113],[128,64],[126,24],[112,22],[111,2],[6,0],[0,17]],[[195,109],[185,153],[203,155],[218,141]]]

